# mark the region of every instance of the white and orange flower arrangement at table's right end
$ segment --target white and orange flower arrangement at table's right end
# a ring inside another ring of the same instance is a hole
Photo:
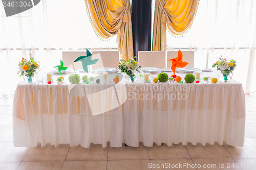
[[[228,76],[230,73],[233,75],[233,70],[237,66],[237,62],[235,60],[226,60],[222,57],[219,57],[220,61],[217,61],[215,64],[212,65],[212,67],[216,67],[217,69],[221,71],[223,76]]]

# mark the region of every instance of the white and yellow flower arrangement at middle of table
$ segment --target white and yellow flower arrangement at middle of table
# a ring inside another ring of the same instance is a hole
[[[122,71],[125,72],[126,75],[129,77],[133,78],[135,76],[135,72],[141,68],[141,65],[135,60],[136,57],[134,57],[132,60],[125,60],[121,59],[119,61],[118,68]]]

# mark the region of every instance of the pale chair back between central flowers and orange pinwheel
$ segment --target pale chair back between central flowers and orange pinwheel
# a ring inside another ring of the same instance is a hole
[[[164,51],[141,51],[138,52],[138,59],[141,67],[166,68]]]

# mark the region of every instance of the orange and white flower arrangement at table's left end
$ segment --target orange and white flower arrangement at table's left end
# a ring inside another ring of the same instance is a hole
[[[34,76],[36,70],[39,68],[39,65],[37,62],[34,60],[34,58],[30,58],[29,60],[22,58],[22,61],[18,63],[20,76],[27,76],[27,77],[32,77]]]

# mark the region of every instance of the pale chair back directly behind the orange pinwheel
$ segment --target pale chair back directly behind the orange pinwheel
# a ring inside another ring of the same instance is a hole
[[[189,51],[189,52],[182,52],[183,55],[183,62],[188,62],[185,67],[194,67],[194,51]],[[178,51],[167,51],[167,60],[177,57],[178,56]],[[172,61],[167,61],[167,68],[170,68],[172,66]]]

